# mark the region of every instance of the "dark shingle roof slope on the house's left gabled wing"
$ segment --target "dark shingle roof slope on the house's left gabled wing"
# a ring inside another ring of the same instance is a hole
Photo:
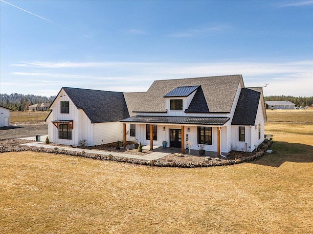
[[[113,122],[129,117],[124,94],[121,92],[62,88],[77,109],[82,109],[91,123]]]

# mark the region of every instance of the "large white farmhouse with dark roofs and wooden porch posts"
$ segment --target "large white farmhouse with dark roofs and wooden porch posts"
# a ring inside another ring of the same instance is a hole
[[[65,145],[100,145],[117,139],[144,145],[188,145],[217,155],[251,152],[264,141],[261,87],[241,75],[156,80],[147,92],[120,93],[63,87],[46,118],[49,139]]]

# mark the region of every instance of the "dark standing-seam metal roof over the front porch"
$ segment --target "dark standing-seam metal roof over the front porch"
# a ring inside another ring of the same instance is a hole
[[[133,116],[121,122],[224,125],[228,117]]]

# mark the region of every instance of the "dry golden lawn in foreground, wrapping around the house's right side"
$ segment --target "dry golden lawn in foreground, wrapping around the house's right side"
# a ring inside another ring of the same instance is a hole
[[[210,168],[2,153],[0,233],[313,233],[313,124],[266,134],[272,154]]]

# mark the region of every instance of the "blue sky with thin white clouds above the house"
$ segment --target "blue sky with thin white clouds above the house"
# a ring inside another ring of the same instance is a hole
[[[313,96],[313,0],[0,0],[0,93],[234,74]]]

